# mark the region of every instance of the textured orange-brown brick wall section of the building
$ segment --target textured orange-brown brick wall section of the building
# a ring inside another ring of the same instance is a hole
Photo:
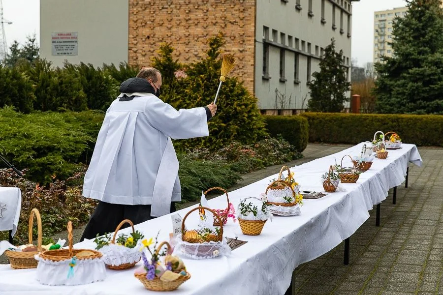
[[[174,58],[202,59],[207,39],[225,35],[223,53],[238,64],[239,77],[253,93],[255,0],[129,0],[128,62],[148,66],[160,43],[171,43]]]

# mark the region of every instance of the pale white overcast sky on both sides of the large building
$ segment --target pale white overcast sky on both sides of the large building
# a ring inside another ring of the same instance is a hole
[[[39,0],[2,0],[4,18],[13,22],[5,25],[8,47],[14,40],[24,43],[28,35],[40,33]],[[276,1],[276,0],[273,0]],[[305,0],[302,0],[305,1]],[[315,0],[319,1],[319,0]],[[360,0],[352,2],[352,59],[358,65],[373,61],[374,11],[406,6],[405,0]]]

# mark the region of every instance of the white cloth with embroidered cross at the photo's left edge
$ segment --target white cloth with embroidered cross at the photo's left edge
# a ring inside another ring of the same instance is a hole
[[[0,187],[0,231],[17,232],[22,207],[22,192],[18,187]]]

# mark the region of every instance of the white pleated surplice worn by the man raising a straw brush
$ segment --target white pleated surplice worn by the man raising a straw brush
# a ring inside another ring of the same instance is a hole
[[[83,196],[112,204],[152,204],[151,216],[168,214],[171,201],[181,201],[171,138],[209,136],[206,110],[177,111],[154,94],[125,94],[136,96],[117,98],[106,111]]]

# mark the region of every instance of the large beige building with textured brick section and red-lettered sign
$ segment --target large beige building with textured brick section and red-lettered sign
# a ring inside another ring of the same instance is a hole
[[[331,38],[350,80],[351,19],[351,0],[40,0],[41,56],[148,66],[167,42],[187,63],[204,58],[221,31],[223,53],[239,60],[231,75],[262,113],[295,114],[307,107],[307,83]]]

